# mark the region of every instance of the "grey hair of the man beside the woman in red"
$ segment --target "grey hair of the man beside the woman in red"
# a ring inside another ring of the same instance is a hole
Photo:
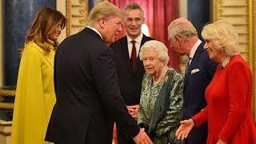
[[[189,38],[191,36],[198,36],[197,30],[194,28],[192,23],[186,18],[177,18],[173,22],[170,22],[168,26],[168,37],[173,41],[176,41],[176,35],[182,36],[183,38]]]

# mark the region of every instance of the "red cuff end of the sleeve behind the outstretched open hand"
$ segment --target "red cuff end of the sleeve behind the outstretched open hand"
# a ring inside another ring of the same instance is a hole
[[[195,126],[197,126],[197,127],[199,127],[203,123],[207,122],[207,118],[208,118],[207,106],[200,113],[195,114],[192,118],[194,119]]]

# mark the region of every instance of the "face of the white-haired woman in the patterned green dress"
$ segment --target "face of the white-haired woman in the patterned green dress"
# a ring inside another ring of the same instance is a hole
[[[158,53],[154,50],[145,50],[142,53],[143,66],[148,74],[159,74],[163,62],[158,58]]]

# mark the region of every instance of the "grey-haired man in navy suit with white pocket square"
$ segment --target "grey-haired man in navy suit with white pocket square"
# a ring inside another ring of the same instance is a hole
[[[168,26],[170,46],[180,55],[187,55],[184,81],[184,118],[191,118],[206,106],[205,90],[213,78],[216,63],[211,61],[204,43],[198,39],[198,34],[191,22],[185,18],[175,19]],[[207,127],[193,128],[186,143],[205,144]]]

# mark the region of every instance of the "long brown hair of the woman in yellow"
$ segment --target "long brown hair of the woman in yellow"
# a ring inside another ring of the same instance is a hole
[[[27,31],[25,45],[34,41],[41,46],[46,54],[50,53],[50,47],[44,45],[44,42],[50,42],[49,34],[61,24],[62,29],[66,26],[65,16],[57,10],[44,7],[38,11],[34,18],[34,22]],[[50,42],[52,43],[52,42]],[[58,42],[54,42],[54,50],[57,50]],[[24,48],[23,48],[24,49]]]

